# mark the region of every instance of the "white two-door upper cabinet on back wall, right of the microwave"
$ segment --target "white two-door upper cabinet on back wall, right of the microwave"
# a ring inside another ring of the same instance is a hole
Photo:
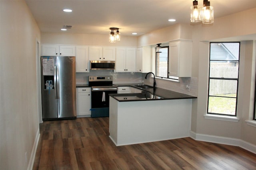
[[[136,48],[116,48],[116,72],[136,71]]]

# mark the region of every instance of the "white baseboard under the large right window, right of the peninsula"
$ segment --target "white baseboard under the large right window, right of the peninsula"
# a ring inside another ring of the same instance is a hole
[[[253,145],[241,139],[220,137],[220,136],[214,136],[214,135],[205,135],[205,134],[194,133],[193,131],[190,131],[190,137],[196,141],[205,141],[205,142],[238,146],[256,154],[256,145]]]

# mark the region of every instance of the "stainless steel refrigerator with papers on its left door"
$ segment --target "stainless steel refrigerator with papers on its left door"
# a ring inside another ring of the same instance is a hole
[[[41,56],[43,121],[76,119],[76,61],[69,56]]]

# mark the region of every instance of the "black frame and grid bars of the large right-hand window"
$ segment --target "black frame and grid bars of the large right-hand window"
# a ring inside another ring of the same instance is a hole
[[[212,43],[239,43],[239,55],[238,55],[238,60],[228,60],[228,61],[235,61],[238,62],[238,77],[237,78],[219,78],[219,77],[210,77],[210,64],[211,61],[227,61],[227,60],[211,60],[211,44]],[[223,115],[223,116],[232,116],[232,117],[236,117],[237,116],[237,105],[238,105],[238,84],[239,84],[239,70],[240,70],[240,42],[210,42],[209,45],[209,64],[208,64],[208,94],[207,94],[207,114],[209,115]],[[236,97],[224,97],[224,96],[214,96],[214,95],[210,95],[210,80],[236,80],[237,84],[236,84]],[[210,97],[220,97],[220,98],[236,98],[236,108],[235,108],[235,114],[234,115],[230,115],[230,114],[223,114],[223,113],[211,113],[208,112],[209,109],[209,98]]]

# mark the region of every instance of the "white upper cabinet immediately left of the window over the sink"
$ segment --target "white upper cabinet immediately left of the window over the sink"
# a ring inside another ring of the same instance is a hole
[[[151,47],[137,48],[137,72],[150,72],[152,64]]]

